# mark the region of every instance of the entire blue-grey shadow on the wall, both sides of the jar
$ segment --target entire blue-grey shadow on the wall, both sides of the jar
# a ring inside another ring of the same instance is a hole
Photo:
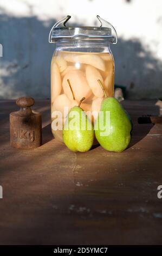
[[[1,13],[3,10],[1,10]],[[50,62],[55,45],[48,43],[51,26],[32,17],[0,15],[0,98],[22,95],[50,97]],[[128,97],[158,98],[162,94],[162,63],[138,40],[119,39],[112,45],[115,82],[127,87]]]

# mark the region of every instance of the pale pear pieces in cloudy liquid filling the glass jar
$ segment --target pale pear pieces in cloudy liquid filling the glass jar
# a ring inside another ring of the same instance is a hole
[[[114,59],[111,53],[55,52],[51,60],[51,130],[56,139],[63,142],[62,129],[67,113],[82,97],[86,99],[81,108],[95,123],[93,112],[100,111],[104,99],[99,80],[107,96],[113,97]]]

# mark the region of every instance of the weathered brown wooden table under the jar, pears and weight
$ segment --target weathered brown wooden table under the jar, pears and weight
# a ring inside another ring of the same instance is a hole
[[[46,100],[35,104],[43,118],[42,147],[10,148],[9,113],[17,106],[1,101],[1,245],[162,243],[162,125],[137,123],[142,114],[159,114],[159,107],[155,101],[123,105],[134,123],[130,147],[76,154],[51,135]]]

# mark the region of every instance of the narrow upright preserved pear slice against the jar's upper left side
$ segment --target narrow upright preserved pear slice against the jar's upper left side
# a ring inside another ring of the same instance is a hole
[[[51,63],[51,102],[61,93],[61,76],[56,63]]]

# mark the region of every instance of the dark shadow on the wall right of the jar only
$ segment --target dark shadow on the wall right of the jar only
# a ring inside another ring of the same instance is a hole
[[[112,45],[115,83],[127,88],[130,99],[158,99],[162,96],[162,62],[137,39],[119,38]]]

